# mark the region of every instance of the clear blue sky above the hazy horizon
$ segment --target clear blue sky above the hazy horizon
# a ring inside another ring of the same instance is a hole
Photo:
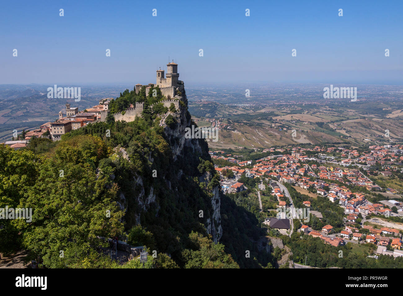
[[[155,82],[157,67],[166,70],[168,56],[185,85],[403,84],[402,0],[0,5],[0,84],[146,84]]]

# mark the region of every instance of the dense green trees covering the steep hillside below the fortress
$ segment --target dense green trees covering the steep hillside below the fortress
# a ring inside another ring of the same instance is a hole
[[[126,90],[109,107],[120,111],[143,99],[150,106],[163,98]],[[185,146],[172,156],[179,139],[159,126],[166,112],[168,128],[177,127],[181,112],[190,122],[185,108],[157,103],[133,122],[108,116],[58,142],[35,139],[23,150],[1,146],[0,207],[32,208],[32,221],[3,220],[0,252],[25,249],[28,259],[50,268],[266,266],[270,254],[256,245],[265,231],[236,198],[221,196],[221,244],[208,235],[218,174],[204,139],[194,139],[201,151]],[[158,255],[144,265],[137,259],[120,265],[102,252],[105,238],[114,236]]]

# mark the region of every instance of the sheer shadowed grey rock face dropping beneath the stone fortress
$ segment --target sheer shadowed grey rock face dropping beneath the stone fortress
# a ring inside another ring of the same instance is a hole
[[[161,114],[159,119],[159,126],[163,129],[164,139],[169,145],[169,164],[162,169],[152,170],[152,178],[133,174],[131,189],[123,188],[119,193],[120,207],[125,209],[129,225],[147,225],[154,220],[153,217],[160,217],[161,203],[167,203],[166,199],[168,198],[170,201],[179,203],[180,199],[184,198],[184,196],[180,195],[183,195],[183,191],[186,190],[181,188],[183,183],[189,181],[193,183],[194,178],[197,178],[198,188],[194,193],[187,193],[188,196],[185,197],[189,199],[187,201],[189,205],[181,210],[193,215],[195,221],[204,225],[206,233],[212,235],[214,242],[218,242],[222,236],[220,187],[219,184],[214,184],[214,186],[207,185],[212,182],[214,168],[212,171],[202,173],[197,170],[200,162],[211,160],[208,154],[208,145],[205,139],[185,138],[185,128],[191,127],[195,123],[191,120],[191,115],[187,111],[187,97],[183,84],[178,87],[177,91],[180,92],[180,95],[172,99],[181,101],[179,108],[176,109],[176,112],[168,111],[165,114]],[[168,117],[170,124],[166,123]],[[172,118],[175,124],[172,124]],[[116,147],[114,151],[116,153],[115,161],[119,161],[122,158],[129,162],[132,161],[125,149]],[[150,152],[147,152],[145,156],[150,164],[158,160],[154,159],[155,157]],[[127,195],[132,197],[128,198]],[[195,199],[194,203],[192,199]],[[182,204],[175,206],[179,209],[181,206],[184,207]],[[162,207],[164,207],[165,214],[166,205],[162,205]],[[203,211],[202,217],[199,217],[200,210]],[[175,211],[177,209],[174,209],[173,213]]]

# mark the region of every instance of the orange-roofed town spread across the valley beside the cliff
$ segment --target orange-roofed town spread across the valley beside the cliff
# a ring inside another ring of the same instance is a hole
[[[244,159],[243,155],[222,150],[209,153],[223,164],[215,166],[220,173],[223,193],[241,193],[249,187],[245,180],[256,181],[249,195],[258,195],[260,211],[266,216],[264,224],[271,230],[291,236],[298,219],[297,231],[301,235],[319,237],[324,244],[374,244],[377,246],[375,257],[400,257],[403,256],[403,227],[388,218],[403,220],[403,202],[399,190],[386,187],[388,183],[384,183],[383,178],[402,174],[403,146],[371,146],[369,149],[270,148],[260,151],[269,156],[253,161],[240,160]],[[331,211],[318,206],[318,201],[323,204],[326,200]],[[282,213],[278,214],[278,209]],[[305,216],[301,217],[302,211],[307,209],[310,210],[309,223]],[[290,217],[286,217],[285,212],[290,212]],[[339,212],[339,219],[327,216],[333,215],[331,212]],[[335,221],[334,225],[329,221]]]

